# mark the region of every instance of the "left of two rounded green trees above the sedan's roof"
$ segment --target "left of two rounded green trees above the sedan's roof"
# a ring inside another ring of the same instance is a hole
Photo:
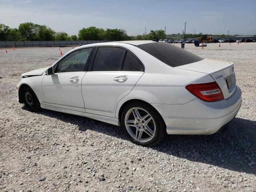
[[[79,40],[103,40],[105,36],[105,30],[102,28],[88,27],[82,28],[78,32]]]

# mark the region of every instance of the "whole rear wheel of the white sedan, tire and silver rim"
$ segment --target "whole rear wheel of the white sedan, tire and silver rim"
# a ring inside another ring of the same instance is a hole
[[[132,142],[150,146],[166,135],[166,126],[160,114],[149,104],[128,104],[122,112],[122,128]]]

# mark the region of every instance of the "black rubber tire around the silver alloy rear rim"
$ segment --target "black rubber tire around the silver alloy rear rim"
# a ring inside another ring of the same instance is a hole
[[[156,131],[155,131],[154,137],[148,142],[139,142],[138,140],[134,139],[129,134],[128,130],[126,129],[126,125],[124,123],[126,113],[134,107],[142,108],[142,109],[146,110],[154,119]],[[124,110],[122,111],[121,124],[122,124],[123,131],[127,134],[127,136],[130,138],[130,140],[133,143],[142,145],[142,146],[152,146],[152,145],[158,144],[164,138],[164,136],[166,136],[166,134],[167,134],[166,133],[166,125],[164,123],[164,120],[160,116],[160,114],[156,111],[155,108],[153,108],[152,106],[150,106],[149,104],[144,103],[144,102],[133,102],[133,103],[127,104],[124,107]]]

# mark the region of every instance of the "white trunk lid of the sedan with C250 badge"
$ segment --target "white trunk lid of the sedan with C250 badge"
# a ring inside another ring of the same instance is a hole
[[[236,88],[234,64],[231,62],[204,59],[176,68],[209,74],[217,82],[225,99],[229,98]]]

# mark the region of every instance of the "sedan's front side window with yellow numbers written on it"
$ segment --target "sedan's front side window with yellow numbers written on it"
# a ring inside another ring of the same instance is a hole
[[[86,48],[72,52],[58,63],[56,73],[84,71],[91,51],[92,48]]]

